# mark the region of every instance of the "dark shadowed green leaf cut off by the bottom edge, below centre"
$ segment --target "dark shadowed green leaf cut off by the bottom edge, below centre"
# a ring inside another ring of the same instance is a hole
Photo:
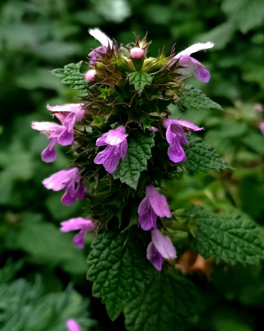
[[[160,274],[124,309],[128,331],[181,331],[195,315],[196,291],[189,280]]]

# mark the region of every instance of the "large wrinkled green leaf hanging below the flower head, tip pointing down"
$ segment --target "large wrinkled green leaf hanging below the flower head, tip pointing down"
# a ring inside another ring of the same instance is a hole
[[[146,258],[146,247],[132,231],[100,234],[91,248],[87,279],[94,281],[93,296],[102,298],[114,320],[125,302],[142,291],[153,268]]]

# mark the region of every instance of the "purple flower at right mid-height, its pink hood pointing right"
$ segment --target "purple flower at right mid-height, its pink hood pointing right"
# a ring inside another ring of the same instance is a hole
[[[203,128],[179,119],[165,119],[164,126],[167,128],[166,139],[170,144],[168,149],[168,156],[170,160],[175,163],[180,161],[185,162],[186,156],[181,144],[188,145],[189,142],[186,139],[182,126],[194,131],[203,130]]]

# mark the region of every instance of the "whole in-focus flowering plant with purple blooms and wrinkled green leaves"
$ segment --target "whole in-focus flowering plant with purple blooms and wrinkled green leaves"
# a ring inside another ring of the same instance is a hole
[[[62,222],[61,231],[79,230],[73,241],[80,248],[87,232],[94,232],[87,278],[110,318],[123,311],[126,328],[133,331],[183,330],[197,315],[197,293],[175,268],[176,249],[181,255],[192,248],[231,265],[263,258],[255,224],[245,215],[198,206],[173,211],[162,190],[164,181],[180,179],[183,172],[231,169],[203,143],[202,127],[170,118],[168,109],[170,104],[186,111],[221,109],[184,84],[191,70],[209,81],[209,72],[191,54],[213,44],[197,43],[177,54],[172,48],[168,57],[162,50],[148,58],[146,36],[118,47],[99,29],[89,32],[101,43],[89,53],[90,70],[81,72],[79,62],[52,71],[80,90],[79,103],[47,106],[60,124],[32,123],[49,140],[44,162],[56,159],[56,144],[70,145],[74,158],[71,167],[43,184],[65,189],[64,205],[89,201],[85,218]],[[188,247],[175,248],[171,230],[187,233]]]

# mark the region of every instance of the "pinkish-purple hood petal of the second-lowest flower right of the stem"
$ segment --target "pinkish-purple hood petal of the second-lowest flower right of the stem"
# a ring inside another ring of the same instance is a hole
[[[170,209],[164,195],[159,194],[152,185],[147,186],[146,196],[149,198],[151,207],[160,217],[171,217]]]

